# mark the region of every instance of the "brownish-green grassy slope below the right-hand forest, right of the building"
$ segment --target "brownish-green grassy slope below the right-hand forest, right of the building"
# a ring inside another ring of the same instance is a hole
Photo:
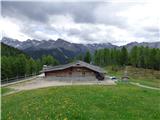
[[[160,88],[160,71],[135,68],[135,67],[126,67],[126,68],[117,68],[112,69],[112,67],[106,67],[109,75],[114,75],[117,77],[122,77],[124,71],[127,70],[130,81],[138,82],[144,85],[159,87]]]

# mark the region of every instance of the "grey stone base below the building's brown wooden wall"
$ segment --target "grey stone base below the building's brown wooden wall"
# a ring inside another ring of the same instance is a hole
[[[53,81],[68,81],[68,82],[74,82],[74,81],[98,81],[95,77],[88,76],[88,77],[44,77],[45,80],[53,80]]]

